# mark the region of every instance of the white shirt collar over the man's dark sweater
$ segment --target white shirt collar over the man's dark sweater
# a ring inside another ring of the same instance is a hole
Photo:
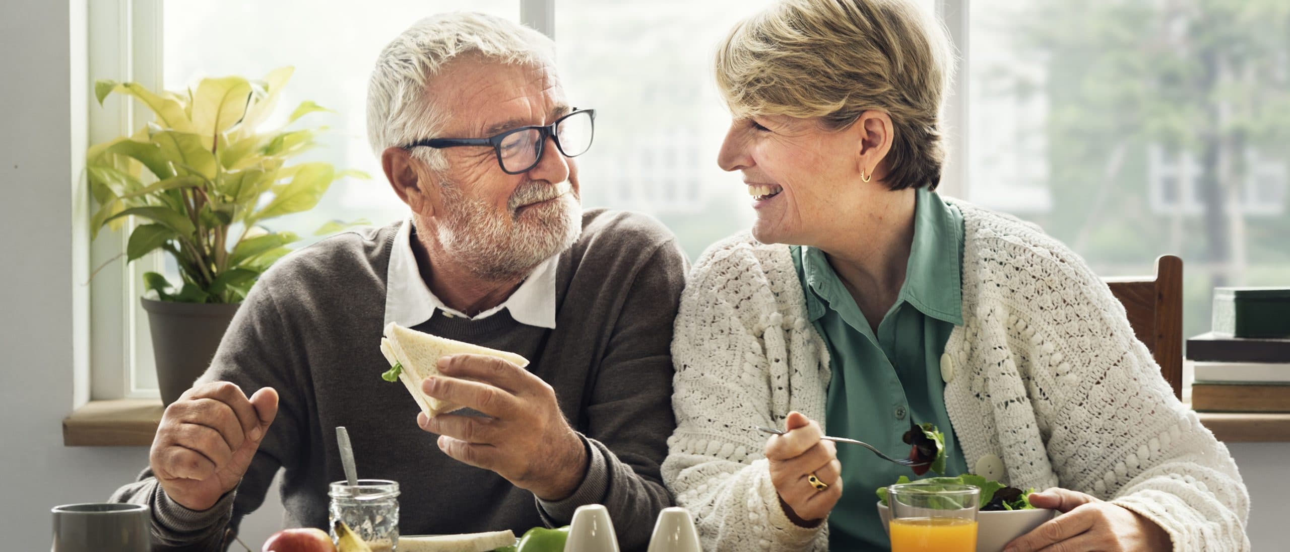
[[[412,219],[404,220],[395,233],[393,248],[390,251],[390,269],[386,271],[386,322],[410,328],[435,315],[435,310],[446,317],[461,317],[481,320],[502,309],[511,311],[515,322],[539,328],[556,327],[556,265],[560,253],[542,261],[529,273],[519,288],[501,305],[475,317],[467,317],[444,305],[426,281],[421,278],[417,256],[412,252]],[[384,326],[382,324],[382,326]]]

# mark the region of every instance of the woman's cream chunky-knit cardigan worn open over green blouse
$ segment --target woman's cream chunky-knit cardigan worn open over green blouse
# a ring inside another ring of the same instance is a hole
[[[968,466],[1022,489],[1112,501],[1165,528],[1174,551],[1249,549],[1236,463],[1174,398],[1107,286],[1037,226],[955,203],[965,326],[942,368]],[[672,358],[677,428],[663,481],[694,513],[703,549],[827,549],[827,524],[784,516],[765,436],[752,430],[782,427],[789,410],[827,427],[828,353],[788,247],[742,233],[708,248],[682,295]],[[876,501],[873,489],[844,493]]]

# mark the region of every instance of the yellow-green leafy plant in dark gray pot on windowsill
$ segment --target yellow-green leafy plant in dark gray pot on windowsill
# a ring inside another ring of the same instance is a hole
[[[284,126],[259,129],[292,71],[279,68],[261,81],[203,78],[178,93],[157,94],[135,82],[94,85],[99,104],[119,93],[155,115],[133,135],[90,147],[86,175],[98,202],[93,235],[135,217],[143,224],[130,233],[126,261],[163,250],[178,265],[175,283],[146,273],[144,290],[156,299],[141,299],[166,404],[206,369],[237,304],[299,239],[263,223],[312,208],[338,178],[366,178],[325,162],[288,165],[325,130],[292,127],[302,116],[325,111],[313,102],[301,103]]]

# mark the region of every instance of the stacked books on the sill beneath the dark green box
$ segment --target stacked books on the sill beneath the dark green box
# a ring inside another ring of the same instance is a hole
[[[1290,412],[1290,338],[1202,333],[1187,340],[1187,359],[1193,409]]]

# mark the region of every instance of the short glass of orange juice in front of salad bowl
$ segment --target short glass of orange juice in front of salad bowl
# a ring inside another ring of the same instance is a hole
[[[889,486],[891,552],[977,552],[979,498],[973,485]]]

